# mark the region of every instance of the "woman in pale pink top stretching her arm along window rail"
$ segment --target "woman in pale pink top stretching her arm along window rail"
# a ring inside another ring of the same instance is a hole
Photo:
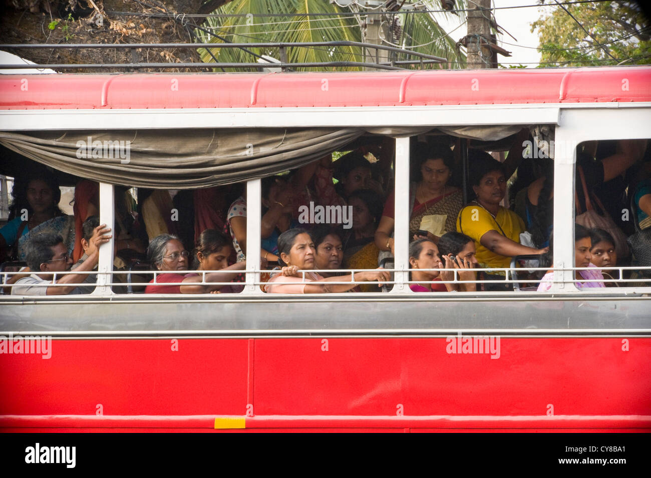
[[[378,281],[389,280],[389,272],[383,269],[377,271],[355,272],[350,274],[324,278],[316,272],[305,272],[314,269],[314,242],[309,233],[300,228],[283,232],[278,238],[279,263],[283,269],[275,274],[267,283],[264,290],[275,294],[320,294],[325,292],[346,292],[357,284],[329,284],[330,282]]]

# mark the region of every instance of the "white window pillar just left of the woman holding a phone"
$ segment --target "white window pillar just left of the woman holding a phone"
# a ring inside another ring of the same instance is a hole
[[[404,282],[409,280],[409,138],[396,139],[396,181],[395,181],[395,282],[391,292],[402,293],[409,289]]]

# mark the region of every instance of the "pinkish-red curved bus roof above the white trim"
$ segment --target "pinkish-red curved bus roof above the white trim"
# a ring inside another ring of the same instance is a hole
[[[651,67],[0,75],[0,109],[370,107],[651,101]]]

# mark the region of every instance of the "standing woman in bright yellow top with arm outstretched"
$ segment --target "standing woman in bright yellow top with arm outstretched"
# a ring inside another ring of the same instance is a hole
[[[506,178],[502,163],[483,151],[469,150],[470,183],[477,198],[462,209],[456,219],[456,230],[472,237],[477,247],[481,268],[510,266],[511,258],[522,254],[542,254],[547,248],[534,249],[519,243],[525,232],[523,220],[513,211],[499,205],[506,194]],[[491,274],[486,274],[487,278]],[[504,278],[495,271],[496,280]],[[486,284],[487,286],[489,284]],[[495,284],[486,290],[509,290],[511,284]]]

